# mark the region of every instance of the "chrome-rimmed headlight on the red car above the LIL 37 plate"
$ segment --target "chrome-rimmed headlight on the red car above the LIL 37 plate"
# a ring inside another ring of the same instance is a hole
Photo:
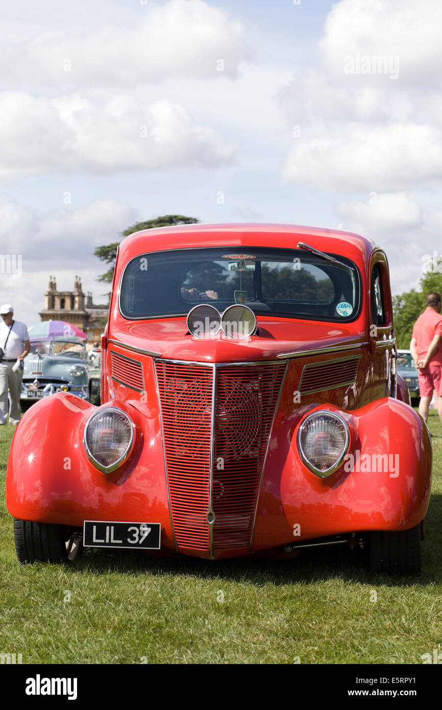
[[[89,417],[84,427],[84,448],[100,471],[118,469],[131,453],[135,427],[128,415],[117,408],[106,408]]]

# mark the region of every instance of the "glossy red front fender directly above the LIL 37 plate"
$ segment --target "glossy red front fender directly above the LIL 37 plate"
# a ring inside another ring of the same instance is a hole
[[[128,413],[136,425],[131,457],[112,474],[98,471],[83,446],[84,425],[99,408],[58,393],[28,410],[9,453],[9,513],[79,528],[84,520],[161,523],[161,546],[175,549],[158,408],[139,401],[109,402],[101,408],[109,405]]]

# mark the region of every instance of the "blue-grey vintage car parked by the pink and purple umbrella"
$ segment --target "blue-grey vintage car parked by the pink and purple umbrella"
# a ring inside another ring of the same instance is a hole
[[[74,336],[31,339],[31,352],[24,360],[22,403],[33,403],[55,392],[72,392],[89,400],[91,387],[82,340]]]

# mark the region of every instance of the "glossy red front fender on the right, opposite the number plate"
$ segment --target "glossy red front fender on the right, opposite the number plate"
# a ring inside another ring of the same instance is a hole
[[[297,430],[306,415],[324,409],[348,422],[353,465],[349,458],[335,474],[320,479],[299,457]],[[269,547],[269,542],[276,546],[344,532],[405,530],[424,519],[431,491],[431,439],[409,405],[384,398],[352,411],[335,405],[304,408],[277,420],[273,437],[252,550]]]

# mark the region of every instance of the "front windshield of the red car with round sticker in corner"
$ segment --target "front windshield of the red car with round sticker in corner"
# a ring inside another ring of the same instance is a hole
[[[128,263],[120,289],[126,318],[187,315],[198,303],[223,311],[245,303],[257,314],[353,320],[359,273],[304,250],[238,247],[146,253]]]

